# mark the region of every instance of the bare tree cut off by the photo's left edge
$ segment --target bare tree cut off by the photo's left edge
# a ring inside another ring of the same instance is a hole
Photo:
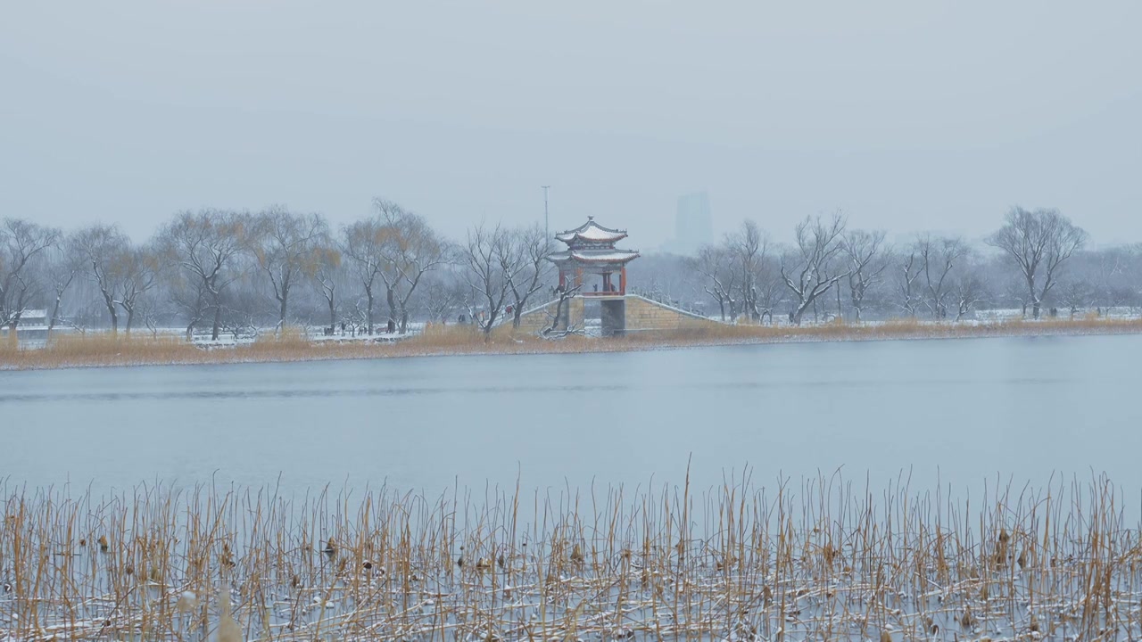
[[[0,324],[14,329],[19,322],[35,286],[27,272],[29,265],[59,238],[55,227],[22,218],[5,218],[0,224]]]

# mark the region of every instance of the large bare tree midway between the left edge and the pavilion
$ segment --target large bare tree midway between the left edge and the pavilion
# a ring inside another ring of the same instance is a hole
[[[321,215],[295,214],[282,206],[273,206],[255,218],[249,241],[278,302],[279,329],[286,326],[290,289],[303,276],[314,275],[316,241],[327,232]]]

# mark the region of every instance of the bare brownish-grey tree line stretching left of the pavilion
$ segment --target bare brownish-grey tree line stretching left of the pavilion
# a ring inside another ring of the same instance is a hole
[[[376,199],[368,218],[333,230],[319,214],[180,211],[145,242],[116,225],[64,232],[0,222],[0,326],[45,310],[62,323],[130,334],[177,326],[187,336],[321,324],[405,332],[411,319],[516,321],[547,286],[538,226],[472,230],[452,242],[400,204]]]

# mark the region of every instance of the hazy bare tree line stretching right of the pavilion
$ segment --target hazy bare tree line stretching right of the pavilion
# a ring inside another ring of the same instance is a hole
[[[959,321],[978,310],[1142,308],[1142,246],[1087,249],[1087,234],[1054,209],[1013,208],[982,243],[917,234],[890,244],[884,231],[846,217],[799,222],[794,242],[777,244],[753,220],[697,257],[658,257],[641,284],[671,297],[707,300],[723,320],[799,324],[868,313]],[[649,282],[648,282],[649,280]]]

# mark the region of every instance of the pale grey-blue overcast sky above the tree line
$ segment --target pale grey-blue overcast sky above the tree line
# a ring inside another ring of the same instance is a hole
[[[1142,241],[1142,2],[7,2],[0,216],[396,200],[593,214],[632,247],[805,215],[980,238],[1012,204]]]

